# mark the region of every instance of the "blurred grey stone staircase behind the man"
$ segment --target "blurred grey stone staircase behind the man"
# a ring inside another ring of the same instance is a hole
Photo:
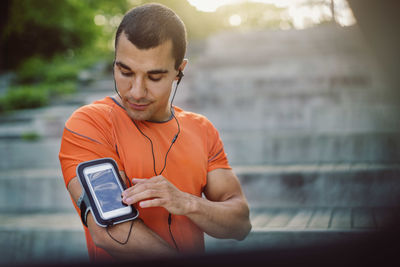
[[[241,242],[206,236],[207,251],[319,246],[393,227],[399,108],[357,28],[222,33],[200,53],[176,104],[220,130],[253,225]],[[50,107],[0,118],[0,263],[88,260],[60,136],[73,110],[112,86],[99,77]],[[41,138],[21,138],[32,131]]]

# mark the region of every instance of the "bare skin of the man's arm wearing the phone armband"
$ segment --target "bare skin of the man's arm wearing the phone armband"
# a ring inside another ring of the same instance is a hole
[[[123,173],[122,175],[125,178]],[[82,193],[82,187],[77,177],[69,182],[68,191],[76,203]],[[108,229],[110,235],[116,240],[125,241],[129,235],[131,223],[131,221],[128,221],[110,227]],[[97,225],[90,212],[87,216],[87,225],[95,245],[103,248],[117,259],[137,259],[143,256],[154,257],[155,254],[163,257],[176,254],[176,250],[149,229],[141,219],[133,221],[132,232],[125,245],[114,241],[108,235],[106,228]]]

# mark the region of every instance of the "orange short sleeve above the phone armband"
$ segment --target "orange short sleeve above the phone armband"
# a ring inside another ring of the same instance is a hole
[[[59,160],[65,185],[76,176],[79,163],[105,157],[113,158],[122,169],[107,110],[78,109],[66,122],[61,139]]]

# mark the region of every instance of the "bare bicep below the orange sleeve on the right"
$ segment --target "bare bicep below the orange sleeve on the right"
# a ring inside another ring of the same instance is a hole
[[[233,197],[244,198],[239,179],[230,169],[216,169],[207,174],[204,195],[211,201],[225,201]]]

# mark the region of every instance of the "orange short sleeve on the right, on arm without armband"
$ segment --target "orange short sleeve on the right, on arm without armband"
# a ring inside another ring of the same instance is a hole
[[[224,145],[217,129],[211,124],[207,125],[208,168],[207,172],[215,169],[231,169]]]

